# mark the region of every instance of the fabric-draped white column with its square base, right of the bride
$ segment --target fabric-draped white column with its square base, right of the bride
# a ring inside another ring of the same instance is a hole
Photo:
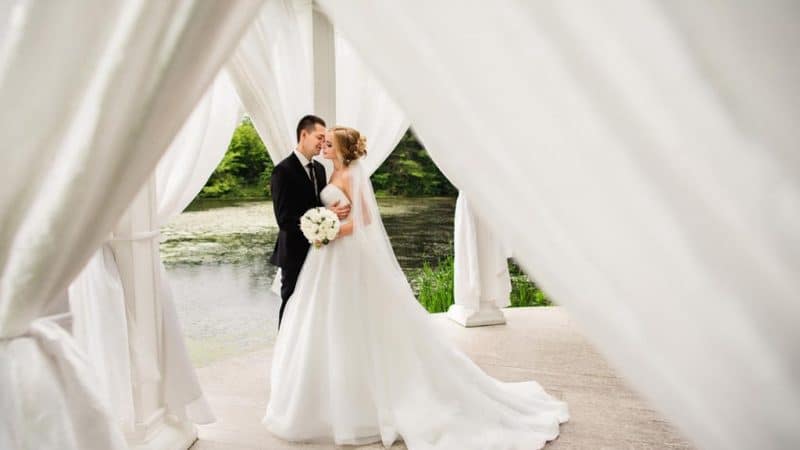
[[[507,249],[461,193],[455,214],[455,303],[447,316],[465,327],[504,324],[500,307],[510,304],[511,294]]]

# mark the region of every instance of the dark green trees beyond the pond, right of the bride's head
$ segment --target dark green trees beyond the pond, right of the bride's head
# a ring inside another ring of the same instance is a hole
[[[372,175],[372,186],[381,194],[410,197],[455,196],[458,193],[410,130]]]

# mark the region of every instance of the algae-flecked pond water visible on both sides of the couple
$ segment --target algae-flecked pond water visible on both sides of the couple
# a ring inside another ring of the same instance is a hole
[[[452,250],[454,198],[381,198],[384,225],[407,276]],[[280,299],[267,261],[277,236],[270,202],[194,204],[162,229],[161,256],[197,366],[275,339]]]

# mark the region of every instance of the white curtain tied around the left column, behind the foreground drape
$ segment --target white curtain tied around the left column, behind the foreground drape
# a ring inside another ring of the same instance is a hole
[[[241,117],[239,101],[226,72],[221,72],[195,106],[156,168],[159,223],[179,214],[202,189],[219,164]],[[153,230],[158,231],[158,230]],[[161,264],[164,367],[156,355],[138,351],[134,314],[126,313],[119,268],[108,242],[98,249],[69,288],[73,335],[95,368],[101,392],[123,429],[134,421],[135,380],[164,377],[167,410],[194,423],[209,423],[213,415],[188,358],[172,290]],[[130,350],[129,350],[130,349]]]

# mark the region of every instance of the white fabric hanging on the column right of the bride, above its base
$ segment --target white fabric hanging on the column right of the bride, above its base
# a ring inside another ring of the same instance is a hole
[[[484,222],[467,198],[459,194],[453,235],[453,297],[456,305],[468,311],[478,311],[481,301],[498,308],[510,304],[508,258],[511,254]]]

